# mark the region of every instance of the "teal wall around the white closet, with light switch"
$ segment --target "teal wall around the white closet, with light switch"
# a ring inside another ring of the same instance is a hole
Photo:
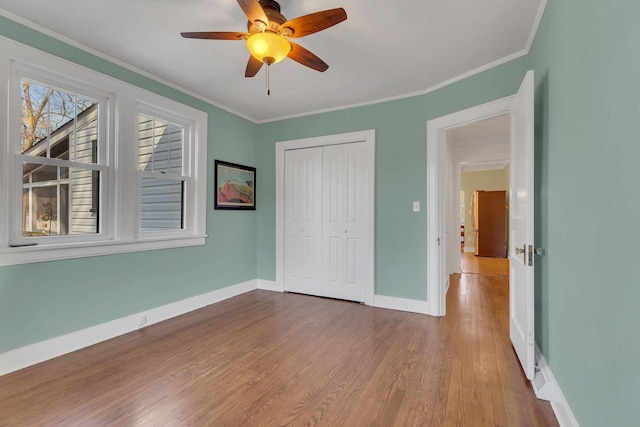
[[[258,277],[275,280],[275,143],[375,129],[375,293],[426,301],[427,121],[513,95],[527,67],[523,57],[426,95],[261,125]]]

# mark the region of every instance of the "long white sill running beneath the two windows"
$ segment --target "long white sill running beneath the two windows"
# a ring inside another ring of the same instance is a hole
[[[206,243],[206,237],[206,235],[183,235],[136,240],[67,243],[64,245],[5,247],[0,250],[0,267],[34,262],[86,258],[99,255],[114,255],[127,252],[201,246]]]

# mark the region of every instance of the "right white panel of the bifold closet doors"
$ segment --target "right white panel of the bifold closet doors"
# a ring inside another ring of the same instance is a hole
[[[366,147],[323,149],[323,296],[364,302]]]

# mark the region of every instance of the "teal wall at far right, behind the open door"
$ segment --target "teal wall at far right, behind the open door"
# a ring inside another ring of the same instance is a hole
[[[537,339],[578,422],[640,425],[640,3],[550,1],[536,71]]]

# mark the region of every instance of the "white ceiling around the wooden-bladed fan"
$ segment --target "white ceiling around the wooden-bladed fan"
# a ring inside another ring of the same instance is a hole
[[[244,77],[242,41],[182,31],[246,31],[235,0],[0,0],[0,13],[133,66],[255,122],[425,93],[526,53],[546,0],[282,0],[292,19],[344,7],[348,19],[296,39],[324,73],[285,59]]]

